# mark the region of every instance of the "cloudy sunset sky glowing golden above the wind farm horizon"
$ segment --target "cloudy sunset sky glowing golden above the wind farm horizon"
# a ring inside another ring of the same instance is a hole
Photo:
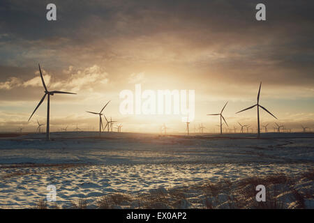
[[[204,132],[218,132],[223,112],[230,128],[257,128],[261,123],[286,128],[314,128],[313,1],[54,1],[57,21],[47,21],[50,1],[2,0],[0,3],[0,132],[35,131],[45,123],[38,63],[54,95],[50,128],[76,125],[98,130],[98,116],[126,132],[185,132],[178,115],[121,114],[121,91],[194,90],[195,118]],[[257,3],[266,6],[266,21],[255,20]]]

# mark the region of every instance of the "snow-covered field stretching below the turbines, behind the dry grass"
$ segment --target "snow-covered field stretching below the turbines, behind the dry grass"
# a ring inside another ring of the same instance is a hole
[[[97,208],[96,201],[117,192],[134,197],[156,191],[170,194],[176,188],[191,190],[195,185],[272,174],[298,178],[294,187],[301,190],[305,184],[306,207],[314,208],[313,180],[300,178],[314,168],[310,133],[264,134],[263,139],[254,139],[253,134],[219,138],[117,132],[103,132],[101,139],[97,132],[55,132],[51,137],[54,140],[43,140],[45,134],[0,138],[0,208],[33,208],[45,199],[47,185],[57,188],[57,202],[50,206],[70,208],[84,198],[87,208]],[[202,206],[204,192],[195,190],[178,202],[184,206],[172,207],[208,207]],[[221,203],[214,208],[225,207]],[[136,206],[129,201],[118,207]]]

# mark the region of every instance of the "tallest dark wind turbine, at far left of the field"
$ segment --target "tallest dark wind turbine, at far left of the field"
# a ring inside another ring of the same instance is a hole
[[[45,84],[45,81],[43,79],[43,73],[40,70],[39,63],[38,63],[38,68],[39,68],[39,72],[40,72],[41,82],[43,83],[43,87],[45,89],[45,95],[43,95],[43,98],[41,98],[41,100],[38,103],[37,107],[35,108],[35,110],[33,110],[33,113],[31,114],[31,116],[33,116],[33,114],[36,112],[36,110],[41,105],[41,103],[43,103],[43,100],[45,100],[46,95],[48,95],[48,100],[47,100],[47,131],[46,131],[46,139],[50,140],[50,95],[53,96],[55,93],[66,93],[66,94],[76,95],[76,93],[70,93],[70,92],[65,92],[65,91],[48,91],[47,86]],[[29,117],[29,120],[31,120],[31,116]]]

